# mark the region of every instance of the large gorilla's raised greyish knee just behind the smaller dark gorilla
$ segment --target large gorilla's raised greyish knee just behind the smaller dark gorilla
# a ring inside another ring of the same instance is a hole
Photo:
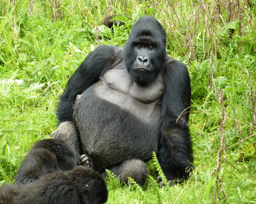
[[[61,122],[58,129],[52,134],[52,137],[68,143],[76,150],[78,155],[81,155],[80,139],[73,122]]]

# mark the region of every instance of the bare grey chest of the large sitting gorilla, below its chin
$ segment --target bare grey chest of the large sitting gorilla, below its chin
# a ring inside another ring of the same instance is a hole
[[[163,94],[161,74],[151,84],[136,84],[125,68],[110,69],[94,86],[95,95],[133,114],[141,121],[156,123]]]

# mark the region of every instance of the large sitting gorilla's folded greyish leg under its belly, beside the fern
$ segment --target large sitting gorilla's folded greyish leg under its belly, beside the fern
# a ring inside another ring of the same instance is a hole
[[[131,177],[140,185],[145,182],[148,174],[146,164],[138,159],[125,160],[108,169],[120,179],[120,182],[127,183],[128,177]],[[105,177],[106,172],[104,171],[101,175]]]

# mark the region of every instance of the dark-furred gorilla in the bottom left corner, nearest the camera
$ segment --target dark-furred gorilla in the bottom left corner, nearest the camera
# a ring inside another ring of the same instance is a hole
[[[4,184],[0,187],[2,204],[99,204],[108,199],[108,190],[101,175],[87,167],[72,171],[55,171],[33,183]]]

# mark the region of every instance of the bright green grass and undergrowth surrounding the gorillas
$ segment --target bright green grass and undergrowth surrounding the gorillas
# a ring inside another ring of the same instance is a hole
[[[124,45],[133,23],[148,14],[166,29],[167,54],[190,73],[195,170],[184,184],[163,189],[155,181],[155,160],[148,163],[150,176],[142,187],[132,180],[123,186],[109,172],[108,203],[212,203],[215,187],[221,203],[255,203],[255,5],[255,0],[1,1],[0,185],[13,183],[31,145],[56,130],[58,96],[84,57],[99,44]],[[126,23],[114,33],[100,26],[112,14]],[[221,141],[220,90],[226,108],[220,177],[227,199],[217,174],[211,176]]]

